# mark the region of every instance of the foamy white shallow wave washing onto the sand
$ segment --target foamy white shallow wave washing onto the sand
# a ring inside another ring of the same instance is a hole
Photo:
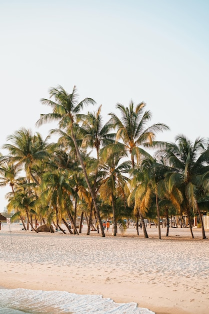
[[[154,314],[136,303],[115,303],[101,295],[66,291],[0,289],[0,314]]]

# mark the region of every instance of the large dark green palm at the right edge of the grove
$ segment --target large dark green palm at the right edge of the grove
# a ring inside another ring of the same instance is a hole
[[[174,143],[168,143],[160,154],[169,162],[171,171],[165,176],[167,191],[171,193],[178,189],[183,197],[182,209],[186,212],[191,236],[191,211],[197,211],[202,226],[202,238],[205,239],[204,226],[198,207],[198,199],[202,197],[203,179],[207,176],[209,165],[209,150],[205,148],[206,140],[196,138],[192,143],[184,135],[177,135]]]

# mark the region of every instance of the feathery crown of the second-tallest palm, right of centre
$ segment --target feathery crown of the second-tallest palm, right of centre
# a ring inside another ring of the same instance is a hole
[[[156,123],[147,127],[147,122],[151,119],[151,112],[144,111],[145,103],[141,102],[134,107],[133,101],[129,103],[129,107],[124,107],[117,103],[116,108],[119,109],[121,117],[114,113],[109,122],[116,128],[116,142],[121,139],[125,150],[130,153],[132,168],[134,168],[134,158],[140,160],[140,156],[146,155],[142,147],[160,145],[160,142],[153,142],[156,132],[168,130],[169,127],[164,123]]]

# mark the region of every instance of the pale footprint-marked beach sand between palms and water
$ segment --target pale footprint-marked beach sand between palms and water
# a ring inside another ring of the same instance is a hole
[[[136,236],[105,238],[91,232],[69,235],[0,231],[0,285],[6,288],[65,290],[101,294],[116,302],[137,302],[157,314],[209,313],[209,240],[201,230],[147,228]],[[209,231],[206,231],[209,238]],[[12,241],[12,243],[11,243]]]

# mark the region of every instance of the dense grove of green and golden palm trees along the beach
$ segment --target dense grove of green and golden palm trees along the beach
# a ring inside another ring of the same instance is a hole
[[[164,123],[151,123],[151,112],[140,102],[117,103],[109,120],[102,121],[102,106],[92,98],[78,99],[76,87],[68,94],[61,86],[41,99],[49,113],[40,114],[36,126],[57,122],[43,139],[38,132],[21,129],[7,136],[0,155],[0,186],[6,195],[12,221],[24,230],[37,225],[53,226],[63,233],[79,235],[82,221],[87,235],[105,237],[103,221],[112,222],[112,234],[125,232],[128,223],[145,221],[160,229],[189,228],[193,221],[205,239],[202,215],[209,212],[209,141],[194,142],[176,134],[174,142],[156,140],[166,132]],[[95,111],[86,110],[94,105]],[[56,135],[56,142],[50,140]],[[150,154],[151,151],[151,154]],[[69,223],[71,228],[69,228]],[[63,229],[63,224],[65,228]],[[67,231],[66,231],[67,230]]]

